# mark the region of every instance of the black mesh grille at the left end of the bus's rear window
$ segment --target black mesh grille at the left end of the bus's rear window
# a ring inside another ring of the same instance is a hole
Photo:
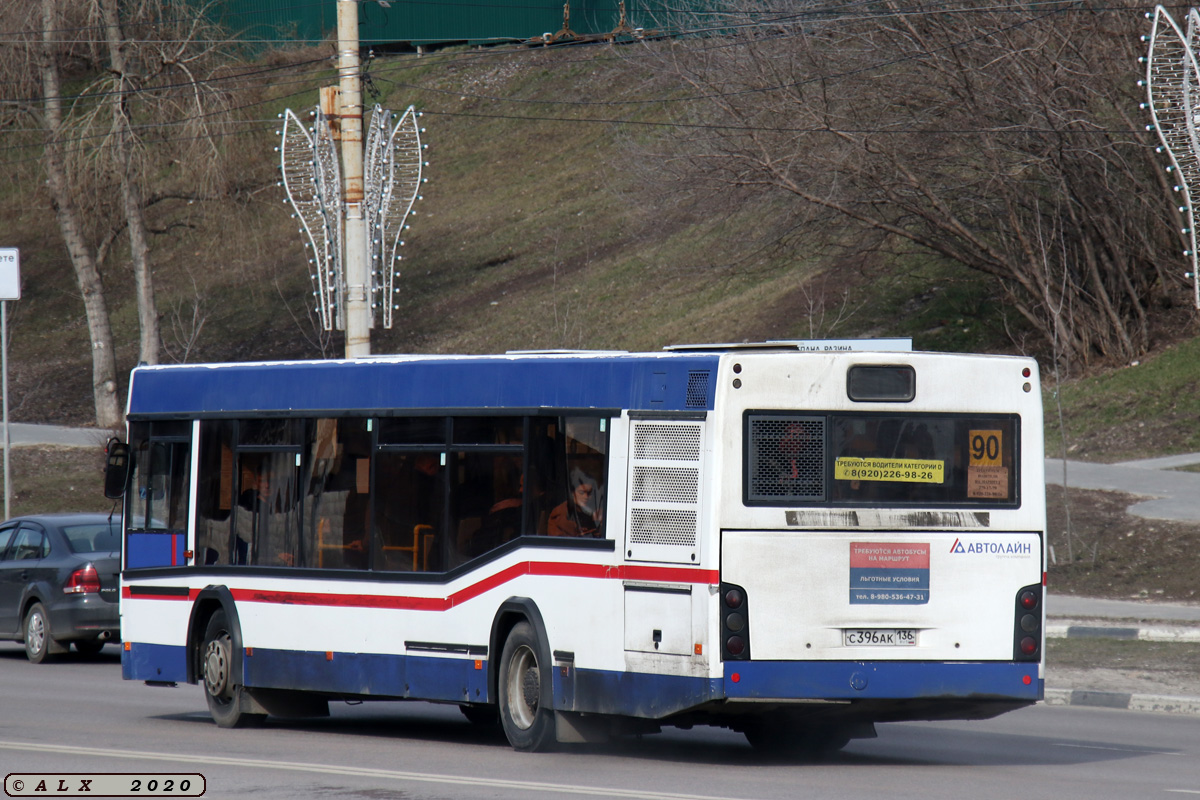
[[[824,417],[751,414],[746,494],[750,503],[826,497]]]

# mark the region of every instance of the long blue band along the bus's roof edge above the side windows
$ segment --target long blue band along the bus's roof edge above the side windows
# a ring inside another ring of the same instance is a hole
[[[715,355],[175,365],[133,372],[130,414],[377,409],[710,410]],[[703,374],[702,380],[695,373]],[[690,386],[689,386],[690,383]]]

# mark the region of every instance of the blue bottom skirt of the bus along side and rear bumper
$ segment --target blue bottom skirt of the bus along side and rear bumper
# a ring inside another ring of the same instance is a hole
[[[186,680],[182,646],[131,643],[126,680]],[[266,650],[245,656],[247,686],[348,696],[486,703],[487,662],[384,654]],[[1039,700],[1037,664],[857,661],[749,661],[725,664],[725,680],[553,668],[554,708],[664,718],[710,700],[972,698]],[[733,680],[733,675],[737,680]],[[1028,676],[1030,684],[1025,684]]]

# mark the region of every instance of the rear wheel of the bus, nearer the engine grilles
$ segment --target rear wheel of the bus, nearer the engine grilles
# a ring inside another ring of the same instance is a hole
[[[528,753],[553,750],[554,710],[542,703],[547,664],[538,660],[538,636],[529,622],[517,622],[500,655],[500,724],[514,750]]]

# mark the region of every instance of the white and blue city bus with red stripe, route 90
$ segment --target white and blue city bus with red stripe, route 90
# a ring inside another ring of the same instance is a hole
[[[527,751],[1033,704],[1037,365],[877,348],[138,367],[124,676],[223,727],[452,703]]]

